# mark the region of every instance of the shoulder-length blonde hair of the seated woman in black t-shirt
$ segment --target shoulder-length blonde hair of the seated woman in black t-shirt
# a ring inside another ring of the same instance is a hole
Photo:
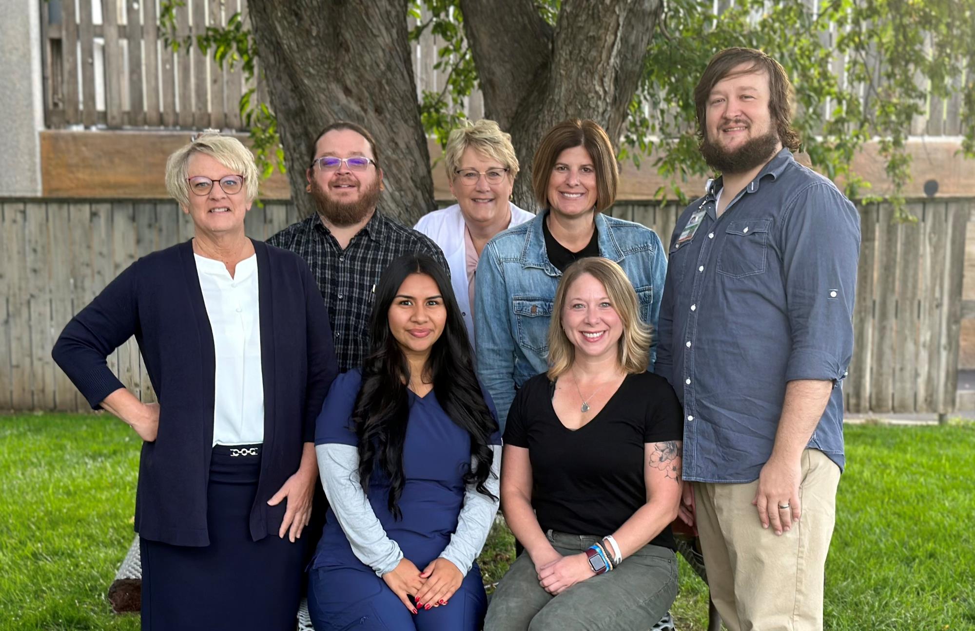
[[[575,347],[569,342],[562,325],[565,310],[565,294],[568,287],[579,277],[588,274],[596,278],[606,290],[609,304],[616,310],[623,323],[623,334],[619,337],[616,363],[629,374],[646,372],[650,357],[650,325],[640,319],[640,302],[630,279],[616,263],[600,256],[579,259],[568,266],[559,288],[555,292],[552,306],[552,321],[549,324],[549,369],[548,377],[555,381],[564,374],[575,361]]]

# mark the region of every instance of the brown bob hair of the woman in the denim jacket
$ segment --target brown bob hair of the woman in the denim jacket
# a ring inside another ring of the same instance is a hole
[[[543,208],[550,208],[548,183],[559,155],[566,149],[583,147],[596,169],[596,212],[603,212],[616,201],[619,169],[612,143],[603,128],[595,121],[569,119],[556,125],[538,144],[531,164],[531,190]]]

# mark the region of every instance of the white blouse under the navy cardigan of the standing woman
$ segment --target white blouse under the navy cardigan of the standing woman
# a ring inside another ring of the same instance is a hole
[[[234,278],[220,261],[196,258],[196,271],[214,331],[214,444],[264,442],[264,382],[260,369],[257,255],[237,264]]]

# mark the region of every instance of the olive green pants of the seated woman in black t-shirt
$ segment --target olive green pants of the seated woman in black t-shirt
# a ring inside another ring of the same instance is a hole
[[[600,539],[551,531],[547,536],[563,556],[584,552]],[[531,557],[523,553],[491,597],[485,631],[646,631],[670,609],[677,586],[677,558],[659,545],[644,545],[612,572],[558,596],[538,584]]]

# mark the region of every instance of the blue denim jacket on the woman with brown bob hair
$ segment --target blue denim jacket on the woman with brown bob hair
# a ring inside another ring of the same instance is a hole
[[[478,263],[478,377],[494,399],[502,431],[515,390],[548,370],[548,328],[562,272],[545,250],[542,222],[547,212],[487,241]],[[667,275],[660,238],[641,224],[602,212],[596,213],[596,230],[600,256],[623,268],[637,290],[643,321],[655,328]],[[650,366],[655,350],[654,336]]]

